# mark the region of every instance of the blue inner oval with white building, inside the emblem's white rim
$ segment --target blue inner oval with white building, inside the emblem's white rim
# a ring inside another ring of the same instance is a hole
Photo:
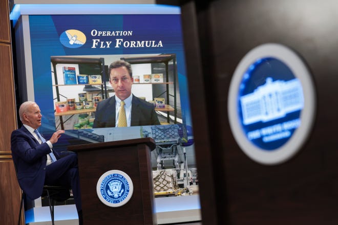
[[[252,63],[238,96],[243,131],[259,148],[272,151],[283,146],[301,124],[302,84],[279,59],[269,57]]]

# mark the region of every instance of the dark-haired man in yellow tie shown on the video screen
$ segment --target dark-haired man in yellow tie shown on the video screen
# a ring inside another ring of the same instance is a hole
[[[133,74],[130,63],[117,60],[110,64],[108,72],[115,96],[98,103],[93,128],[159,125],[154,105],[132,94]],[[126,124],[118,123],[121,104]]]

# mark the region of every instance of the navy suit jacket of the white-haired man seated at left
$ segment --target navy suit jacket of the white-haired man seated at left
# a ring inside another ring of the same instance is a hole
[[[47,143],[39,144],[25,126],[11,135],[11,151],[20,188],[31,199],[41,196],[45,183],[47,154],[51,152]],[[56,159],[60,155],[53,151]]]

